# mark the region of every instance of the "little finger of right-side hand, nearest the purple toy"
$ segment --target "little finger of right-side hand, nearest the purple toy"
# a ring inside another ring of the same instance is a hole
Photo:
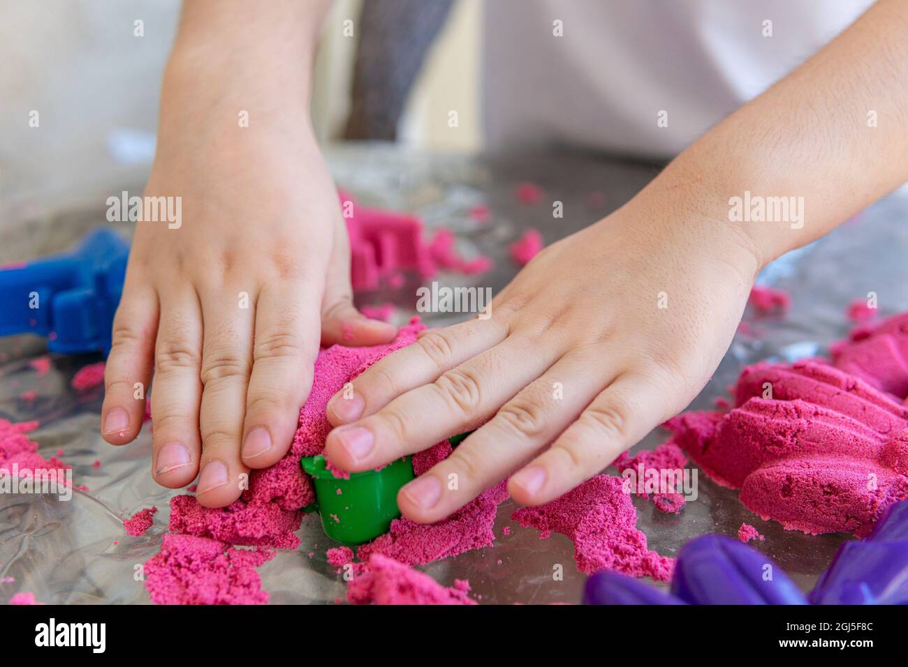
[[[602,391],[558,439],[508,482],[523,505],[541,505],[597,475],[670,417],[665,387],[628,372]]]

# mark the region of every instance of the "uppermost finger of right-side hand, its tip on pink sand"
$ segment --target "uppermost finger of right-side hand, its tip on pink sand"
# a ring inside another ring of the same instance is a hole
[[[455,368],[498,345],[508,335],[502,319],[470,319],[439,329],[412,345],[380,359],[328,402],[332,426],[371,415],[410,389],[434,382]]]

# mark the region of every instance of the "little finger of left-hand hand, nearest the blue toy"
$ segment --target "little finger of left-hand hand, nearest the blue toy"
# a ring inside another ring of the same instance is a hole
[[[142,428],[157,327],[158,298],[154,290],[144,286],[123,289],[114,316],[111,351],[104,365],[101,435],[111,445],[132,442]]]

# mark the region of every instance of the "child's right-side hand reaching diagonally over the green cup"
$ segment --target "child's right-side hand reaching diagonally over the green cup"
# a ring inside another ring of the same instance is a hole
[[[678,212],[629,204],[543,250],[491,319],[372,366],[353,397],[331,399],[331,461],[368,470],[489,420],[401,489],[421,523],[506,476],[519,503],[539,505],[596,475],[706,384],[761,263],[721,215]]]

